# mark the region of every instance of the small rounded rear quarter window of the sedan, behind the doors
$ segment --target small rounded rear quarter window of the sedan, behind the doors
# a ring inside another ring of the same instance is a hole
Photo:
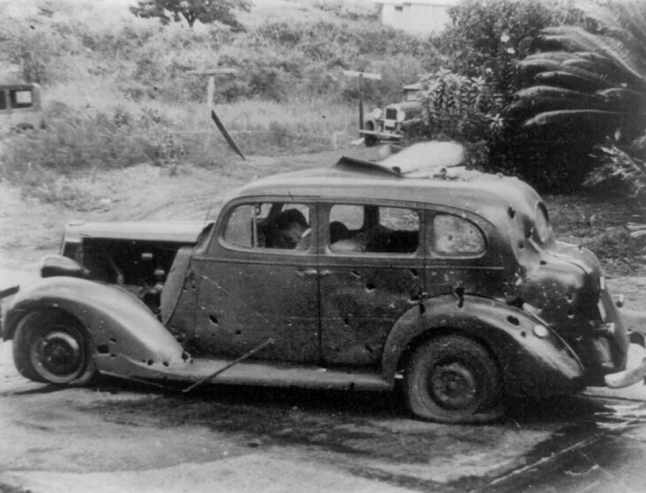
[[[445,255],[476,255],[485,250],[485,237],[467,219],[436,214],[433,217],[433,250]]]

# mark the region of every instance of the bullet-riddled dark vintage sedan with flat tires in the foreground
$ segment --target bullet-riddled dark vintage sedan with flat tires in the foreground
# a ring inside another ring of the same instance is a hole
[[[641,381],[598,259],[554,238],[530,186],[463,157],[426,143],[257,179],[205,223],[68,225],[3,339],[34,381],[401,385],[446,423]]]

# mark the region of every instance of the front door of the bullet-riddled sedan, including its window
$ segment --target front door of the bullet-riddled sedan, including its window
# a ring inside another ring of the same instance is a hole
[[[237,201],[222,212],[209,247],[194,259],[196,339],[202,350],[315,362],[320,357],[316,203]]]

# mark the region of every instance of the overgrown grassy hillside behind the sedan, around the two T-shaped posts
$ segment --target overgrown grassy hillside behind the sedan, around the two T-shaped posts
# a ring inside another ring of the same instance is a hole
[[[0,177],[38,188],[61,173],[148,162],[213,165],[232,159],[207,126],[214,105],[245,154],[317,152],[357,137],[357,79],[383,75],[368,105],[401,96],[433,63],[428,41],[381,26],[369,0],[256,0],[243,32],[222,25],[161,26],[129,2],[25,0],[0,3],[5,81],[43,88],[45,130],[6,137]]]

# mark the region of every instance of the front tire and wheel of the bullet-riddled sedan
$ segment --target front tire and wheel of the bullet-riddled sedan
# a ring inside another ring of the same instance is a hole
[[[38,310],[23,317],[13,352],[18,372],[33,381],[78,387],[96,376],[87,330],[62,310]]]

